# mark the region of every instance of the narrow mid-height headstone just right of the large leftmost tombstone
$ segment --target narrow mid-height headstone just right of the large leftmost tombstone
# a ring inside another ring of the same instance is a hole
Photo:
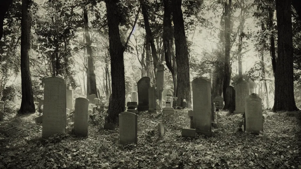
[[[75,99],[74,133],[76,135],[88,136],[88,106],[88,99],[83,97]]]

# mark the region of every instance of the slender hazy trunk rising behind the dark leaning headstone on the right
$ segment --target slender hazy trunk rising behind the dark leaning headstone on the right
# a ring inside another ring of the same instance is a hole
[[[231,64],[230,64],[230,50],[231,50],[231,5],[232,0],[229,3],[225,2],[225,77],[223,83],[223,93],[226,93],[227,87],[230,85],[231,80]],[[224,97],[225,103],[228,103]]]

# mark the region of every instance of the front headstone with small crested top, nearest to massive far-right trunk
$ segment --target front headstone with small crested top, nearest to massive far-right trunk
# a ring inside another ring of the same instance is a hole
[[[250,94],[245,97],[246,107],[246,131],[257,132],[263,131],[262,127],[262,100],[258,94]]]

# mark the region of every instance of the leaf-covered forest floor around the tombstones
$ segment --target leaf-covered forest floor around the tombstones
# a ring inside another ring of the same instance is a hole
[[[118,144],[119,129],[103,127],[101,114],[90,122],[88,137],[59,134],[42,139],[38,113],[8,109],[0,122],[0,168],[301,168],[300,112],[264,111],[264,132],[239,130],[242,115],[217,112],[214,137],[180,137],[190,127],[188,109],[174,115],[138,115],[138,143]],[[157,136],[158,122],[165,136]]]

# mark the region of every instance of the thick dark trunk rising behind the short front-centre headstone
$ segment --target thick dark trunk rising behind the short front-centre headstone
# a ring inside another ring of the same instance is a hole
[[[117,124],[119,113],[125,111],[126,88],[123,63],[123,45],[119,34],[119,16],[116,0],[106,0],[109,46],[111,57],[112,101],[107,112],[108,122]]]

